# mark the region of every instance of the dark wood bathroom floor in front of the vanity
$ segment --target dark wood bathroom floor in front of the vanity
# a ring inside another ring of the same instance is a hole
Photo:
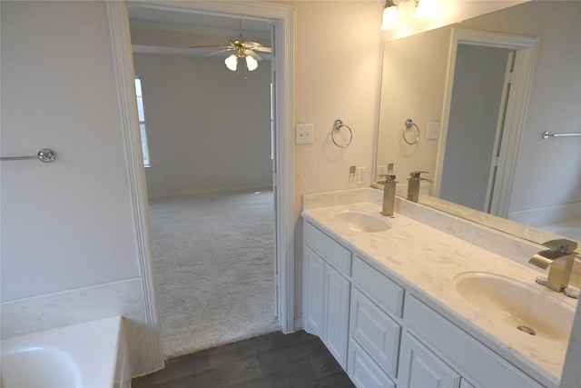
[[[325,345],[303,331],[271,333],[170,360],[133,388],[354,387]]]

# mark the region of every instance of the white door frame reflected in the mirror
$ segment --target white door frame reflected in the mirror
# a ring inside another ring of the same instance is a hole
[[[448,54],[446,91],[442,107],[442,125],[438,143],[438,158],[436,173],[434,175],[434,195],[439,195],[440,177],[444,167],[444,154],[446,151],[458,44],[485,45],[512,49],[517,54],[513,69],[511,91],[507,102],[507,116],[505,118],[506,136],[503,136],[503,144],[501,144],[500,156],[498,157],[497,174],[500,174],[502,177],[499,179],[498,184],[495,184],[495,193],[493,194],[493,201],[495,203],[493,207],[497,209],[495,214],[500,217],[507,216],[512,196],[514,175],[517,170],[518,150],[525,127],[528,97],[533,84],[535,60],[537,58],[537,41],[538,38],[536,37],[505,35],[458,28],[452,29]],[[506,141],[504,141],[505,139]]]

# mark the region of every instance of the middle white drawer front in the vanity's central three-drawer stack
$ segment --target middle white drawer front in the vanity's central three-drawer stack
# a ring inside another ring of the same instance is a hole
[[[351,293],[350,333],[385,372],[396,377],[401,326],[355,287]]]

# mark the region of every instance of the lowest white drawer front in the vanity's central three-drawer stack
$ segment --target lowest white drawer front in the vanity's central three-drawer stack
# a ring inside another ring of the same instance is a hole
[[[358,388],[395,388],[387,373],[369,357],[369,354],[351,338],[349,343],[349,367],[347,373]]]

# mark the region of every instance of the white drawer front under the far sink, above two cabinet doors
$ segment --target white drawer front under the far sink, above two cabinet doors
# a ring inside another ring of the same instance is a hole
[[[351,274],[350,250],[309,223],[305,223],[304,238],[305,244],[309,245],[310,249],[319,254],[340,273],[348,276]]]

